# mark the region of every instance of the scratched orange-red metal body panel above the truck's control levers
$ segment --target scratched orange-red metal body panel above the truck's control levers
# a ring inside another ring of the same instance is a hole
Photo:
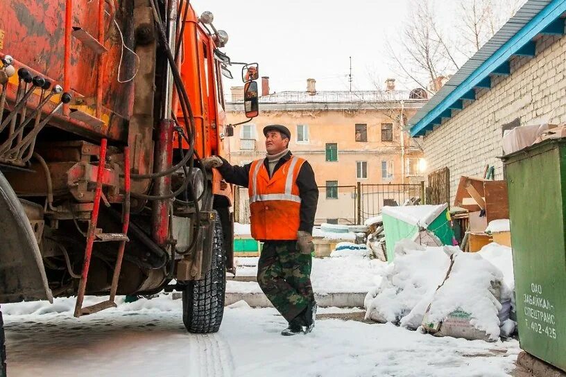
[[[65,13],[67,3],[72,4],[69,25]],[[95,114],[96,105],[101,105],[101,121],[85,123],[82,119],[55,116],[51,124],[79,134],[83,137],[108,137],[126,141],[127,121],[132,112],[132,80],[137,69],[137,58],[128,52],[133,46],[133,3],[117,3],[116,18],[105,12],[104,25],[107,38],[103,43],[101,71],[102,101],[96,103],[98,85],[97,53],[83,40],[73,37],[73,27],[93,37],[98,35],[98,1],[89,0],[6,0],[2,4],[0,17],[0,56],[12,55],[14,67],[30,69],[32,75],[44,76],[53,84],[68,89],[74,98],[74,105],[85,105],[89,115]],[[108,6],[106,10],[109,10]],[[66,37],[70,43],[69,56],[65,56]],[[84,39],[84,38],[83,38]],[[69,74],[65,77],[65,65]],[[120,77],[118,75],[120,73]],[[8,85],[8,109],[15,100],[17,76]],[[28,108],[37,105],[39,91],[31,96]],[[43,109],[47,114],[55,107],[58,96]]]

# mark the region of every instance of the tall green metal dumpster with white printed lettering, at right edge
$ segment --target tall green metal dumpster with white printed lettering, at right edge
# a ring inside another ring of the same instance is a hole
[[[503,161],[521,348],[566,370],[566,139]]]

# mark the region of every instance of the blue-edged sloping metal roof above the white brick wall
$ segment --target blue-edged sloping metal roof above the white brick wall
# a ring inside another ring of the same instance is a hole
[[[566,0],[529,0],[411,119],[411,137],[422,136],[462,109],[462,100],[475,100],[476,88],[491,87],[491,75],[508,75],[513,55],[534,56],[533,38],[563,35]]]

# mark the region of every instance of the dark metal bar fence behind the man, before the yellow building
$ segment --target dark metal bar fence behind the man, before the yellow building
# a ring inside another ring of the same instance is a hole
[[[407,200],[420,198],[424,202],[425,185],[422,184],[357,184],[357,186],[319,186],[315,224],[363,224],[368,218],[379,215],[384,206],[402,205]],[[248,189],[236,190],[234,219],[250,222]]]

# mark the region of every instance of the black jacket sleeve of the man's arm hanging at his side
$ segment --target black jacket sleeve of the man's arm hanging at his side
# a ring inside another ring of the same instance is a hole
[[[308,231],[312,234],[316,207],[318,205],[318,187],[314,178],[311,164],[305,161],[297,176],[297,186],[301,198],[300,207],[300,231]]]

